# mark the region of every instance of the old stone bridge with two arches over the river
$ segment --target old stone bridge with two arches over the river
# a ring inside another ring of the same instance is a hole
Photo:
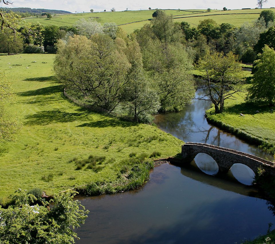
[[[233,164],[242,163],[250,167],[254,173],[261,167],[275,176],[274,163],[260,157],[205,143],[187,142],[182,145],[181,155],[185,162],[192,161],[198,153],[210,155],[219,166],[219,173],[227,173]]]

